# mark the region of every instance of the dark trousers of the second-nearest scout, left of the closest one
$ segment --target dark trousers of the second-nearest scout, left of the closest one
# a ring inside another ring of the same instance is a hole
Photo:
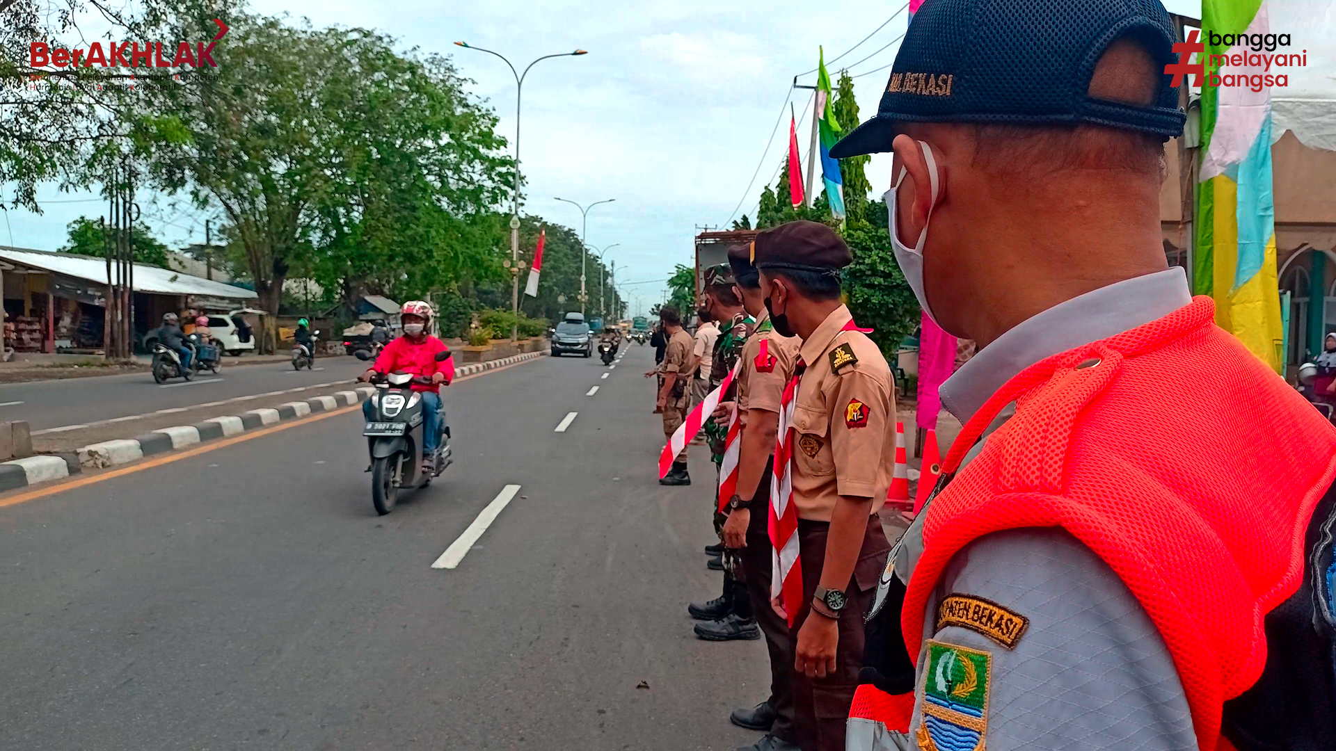
[[[747,572],[747,596],[760,632],[766,635],[770,651],[770,699],[775,711],[775,724],[770,732],[790,742],[798,742],[794,728],[794,641],[788,623],[770,605],[772,551],[767,524],[770,518],[770,462],[752,500],[751,522],[747,525],[747,547],[741,549],[743,569]]]

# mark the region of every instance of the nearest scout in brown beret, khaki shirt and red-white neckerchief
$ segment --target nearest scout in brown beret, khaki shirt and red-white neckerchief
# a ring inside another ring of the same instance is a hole
[[[803,343],[779,413],[771,593],[794,639],[794,711],[804,751],[843,751],[863,660],[863,613],[890,544],[876,512],[895,452],[891,369],[840,302],[852,261],[834,230],[790,222],[756,237],[770,321]]]

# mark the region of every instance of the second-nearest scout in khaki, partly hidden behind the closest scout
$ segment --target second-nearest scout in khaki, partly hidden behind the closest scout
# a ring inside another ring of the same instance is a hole
[[[794,374],[798,361],[796,337],[775,333],[766,311],[760,291],[760,274],[751,263],[749,246],[735,246],[728,251],[732,267],[733,291],[741,298],[747,314],[756,319],[756,327],[747,342],[737,370],[737,420],[741,433],[735,438],[737,450],[737,484],[724,512],[724,544],[737,551],[741,559],[743,580],[756,624],[766,636],[770,653],[770,696],[755,707],[733,710],[733,724],[766,732],[754,746],[739,751],[798,751],[794,727],[794,643],[788,623],[770,604],[771,545],[767,532],[770,520],[770,481],[774,462],[775,436],[779,432],[779,410],[784,385]],[[733,402],[720,402],[716,418],[728,421]],[[700,624],[699,629],[716,628]]]

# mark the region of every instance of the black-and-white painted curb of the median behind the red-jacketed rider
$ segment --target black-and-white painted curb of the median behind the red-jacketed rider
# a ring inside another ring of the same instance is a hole
[[[470,362],[454,369],[454,376],[473,376],[485,370],[494,370],[524,362],[548,354],[546,350],[490,359],[488,362]],[[188,449],[202,441],[227,438],[266,428],[285,420],[297,420],[322,412],[333,412],[345,406],[361,404],[362,400],[375,392],[374,386],[359,386],[346,392],[335,392],[323,397],[311,397],[303,401],[293,401],[277,408],[251,409],[240,414],[226,417],[211,417],[194,425],[176,425],[151,430],[134,438],[118,438],[103,441],[80,448],[69,454],[40,454],[13,461],[0,462],[0,492],[25,488],[48,480],[60,480],[71,474],[77,474],[84,468],[104,469],[118,464],[139,461],[146,456],[160,454]]]

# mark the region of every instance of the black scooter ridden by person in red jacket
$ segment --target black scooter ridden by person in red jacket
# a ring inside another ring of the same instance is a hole
[[[358,350],[355,357],[370,359],[370,353]],[[437,362],[449,358],[448,351],[436,355]],[[366,436],[371,454],[371,505],[383,516],[394,510],[399,489],[424,488],[450,466],[450,428],[445,425],[442,416],[440,448],[433,457],[434,470],[424,473],[422,430],[426,421],[422,414],[422,394],[413,392],[411,385],[429,385],[432,380],[411,373],[389,373],[377,374],[370,382],[375,386],[375,393],[371,394],[375,420],[366,424],[362,434]]]

